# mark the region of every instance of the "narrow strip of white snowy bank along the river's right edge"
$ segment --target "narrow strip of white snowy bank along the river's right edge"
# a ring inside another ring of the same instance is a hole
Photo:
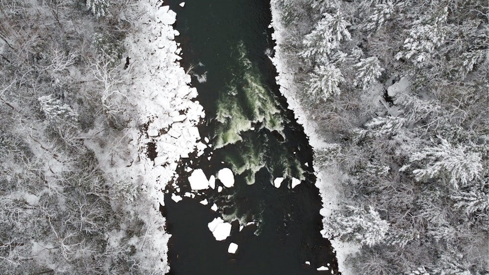
[[[323,148],[327,142],[324,141],[317,133],[317,124],[311,120],[311,116],[308,114],[299,103],[296,96],[296,91],[294,89],[294,75],[291,68],[289,68],[285,63],[286,54],[282,51],[281,44],[284,42],[281,36],[281,32],[285,29],[280,22],[280,11],[277,8],[277,0],[271,0],[271,11],[272,11],[272,22],[271,27],[274,29],[272,38],[276,42],[274,47],[275,55],[271,58],[273,64],[277,68],[278,76],[276,77],[277,84],[280,85],[280,92],[287,98],[287,103],[289,108],[294,111],[295,118],[297,122],[300,123],[305,130],[305,133],[309,137],[309,143],[314,149]],[[283,57],[282,57],[283,56]],[[317,167],[314,167],[315,171],[319,171]],[[322,197],[323,209],[321,209],[320,214],[325,217],[323,219],[323,224],[326,221],[326,217],[330,216],[340,204],[338,201],[338,191],[335,188],[335,184],[338,182],[337,171],[319,171],[316,172],[317,180],[316,187]],[[326,228],[326,227],[325,227]],[[333,235],[334,233],[327,232],[326,230],[321,231],[324,237]],[[333,247],[336,252],[336,258],[338,260],[339,271],[344,275],[352,274],[345,265],[345,260],[348,255],[356,253],[358,251],[358,246],[352,243],[341,242],[339,240],[331,240]]]

